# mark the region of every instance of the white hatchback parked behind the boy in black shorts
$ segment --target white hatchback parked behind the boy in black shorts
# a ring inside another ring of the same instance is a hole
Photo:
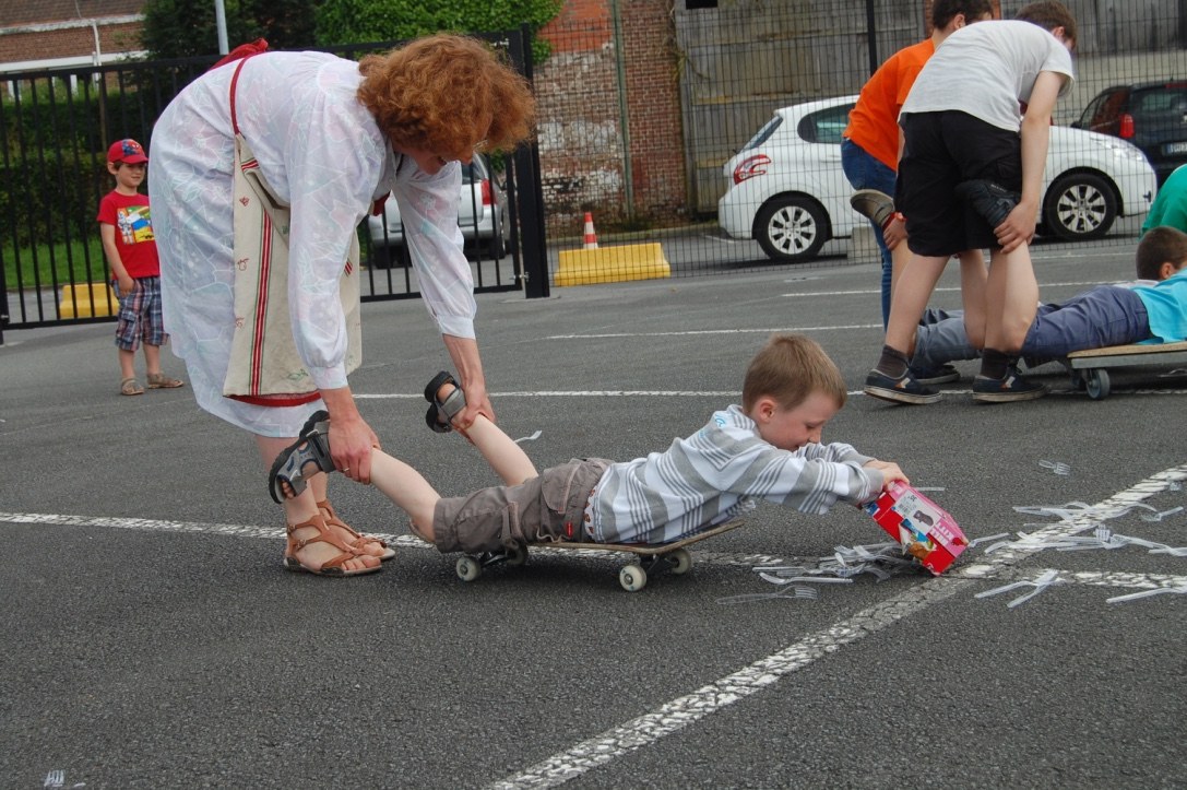
[[[840,134],[856,102],[839,96],[775,110],[723,168],[730,187],[717,202],[722,229],[756,240],[775,260],[802,263],[865,223],[849,206],[853,189],[840,168]],[[1042,189],[1040,233],[1097,239],[1118,216],[1145,214],[1157,182],[1125,140],[1053,126]]]

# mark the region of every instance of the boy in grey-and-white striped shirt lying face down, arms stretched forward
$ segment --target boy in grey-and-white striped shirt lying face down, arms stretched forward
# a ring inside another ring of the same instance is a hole
[[[426,419],[439,432],[465,406],[449,373],[426,387]],[[742,405],[712,415],[662,453],[615,463],[572,460],[538,473],[522,448],[478,417],[462,432],[506,485],[442,498],[415,469],[374,450],[370,482],[399,505],[412,530],[442,552],[481,554],[528,543],[665,544],[707,531],[766,499],[806,513],[837,501],[861,505],[894,480],[896,463],[849,444],[821,444],[825,424],[844,405],[845,381],[814,341],[775,335],[751,360]],[[273,498],[294,497],[305,475],[332,472],[329,423],[315,415],[273,464]]]

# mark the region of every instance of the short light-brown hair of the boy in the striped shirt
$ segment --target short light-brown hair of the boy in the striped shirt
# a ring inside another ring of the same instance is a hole
[[[749,412],[758,398],[770,397],[783,409],[795,409],[819,392],[845,405],[849,391],[837,365],[820,345],[804,335],[772,335],[747,368],[742,383],[742,409]]]

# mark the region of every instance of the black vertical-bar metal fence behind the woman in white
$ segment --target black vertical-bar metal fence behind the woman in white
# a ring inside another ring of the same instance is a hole
[[[531,74],[521,31],[490,37],[513,63]],[[394,43],[334,50],[344,57],[385,51]],[[150,147],[152,127],[165,106],[217,56],[70,70],[40,70],[0,77],[0,333],[63,323],[112,321],[110,271],[95,221],[100,198],[110,191],[107,146],[125,137]],[[493,194],[501,211],[506,242],[468,241],[476,290],[507,291],[546,283],[544,232],[531,147],[491,158],[497,185],[477,187],[477,202]],[[466,190],[470,191],[470,190]],[[459,200],[464,200],[459,196]],[[388,201],[394,204],[394,201]],[[464,214],[476,217],[471,206]],[[377,219],[376,219],[377,220]],[[471,220],[476,222],[476,220]],[[395,226],[398,227],[398,226]],[[358,228],[364,267],[364,301],[419,296],[414,270],[395,228],[364,221]],[[477,236],[477,227],[463,227]],[[2,334],[0,334],[2,341]]]

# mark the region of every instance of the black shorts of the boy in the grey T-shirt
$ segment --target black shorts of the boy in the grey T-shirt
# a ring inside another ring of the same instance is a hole
[[[1022,143],[1017,132],[967,113],[912,113],[902,120],[903,148],[895,206],[907,217],[907,246],[918,255],[946,257],[996,247],[979,214],[954,196],[961,181],[986,178],[1022,189]]]

